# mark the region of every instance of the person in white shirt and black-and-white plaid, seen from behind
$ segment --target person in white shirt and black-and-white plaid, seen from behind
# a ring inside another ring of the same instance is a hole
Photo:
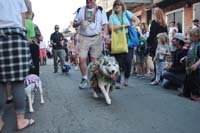
[[[6,85],[12,87],[17,130],[35,123],[25,119],[24,79],[30,67],[30,51],[24,28],[24,0],[0,0],[0,132],[4,127],[3,104]]]

